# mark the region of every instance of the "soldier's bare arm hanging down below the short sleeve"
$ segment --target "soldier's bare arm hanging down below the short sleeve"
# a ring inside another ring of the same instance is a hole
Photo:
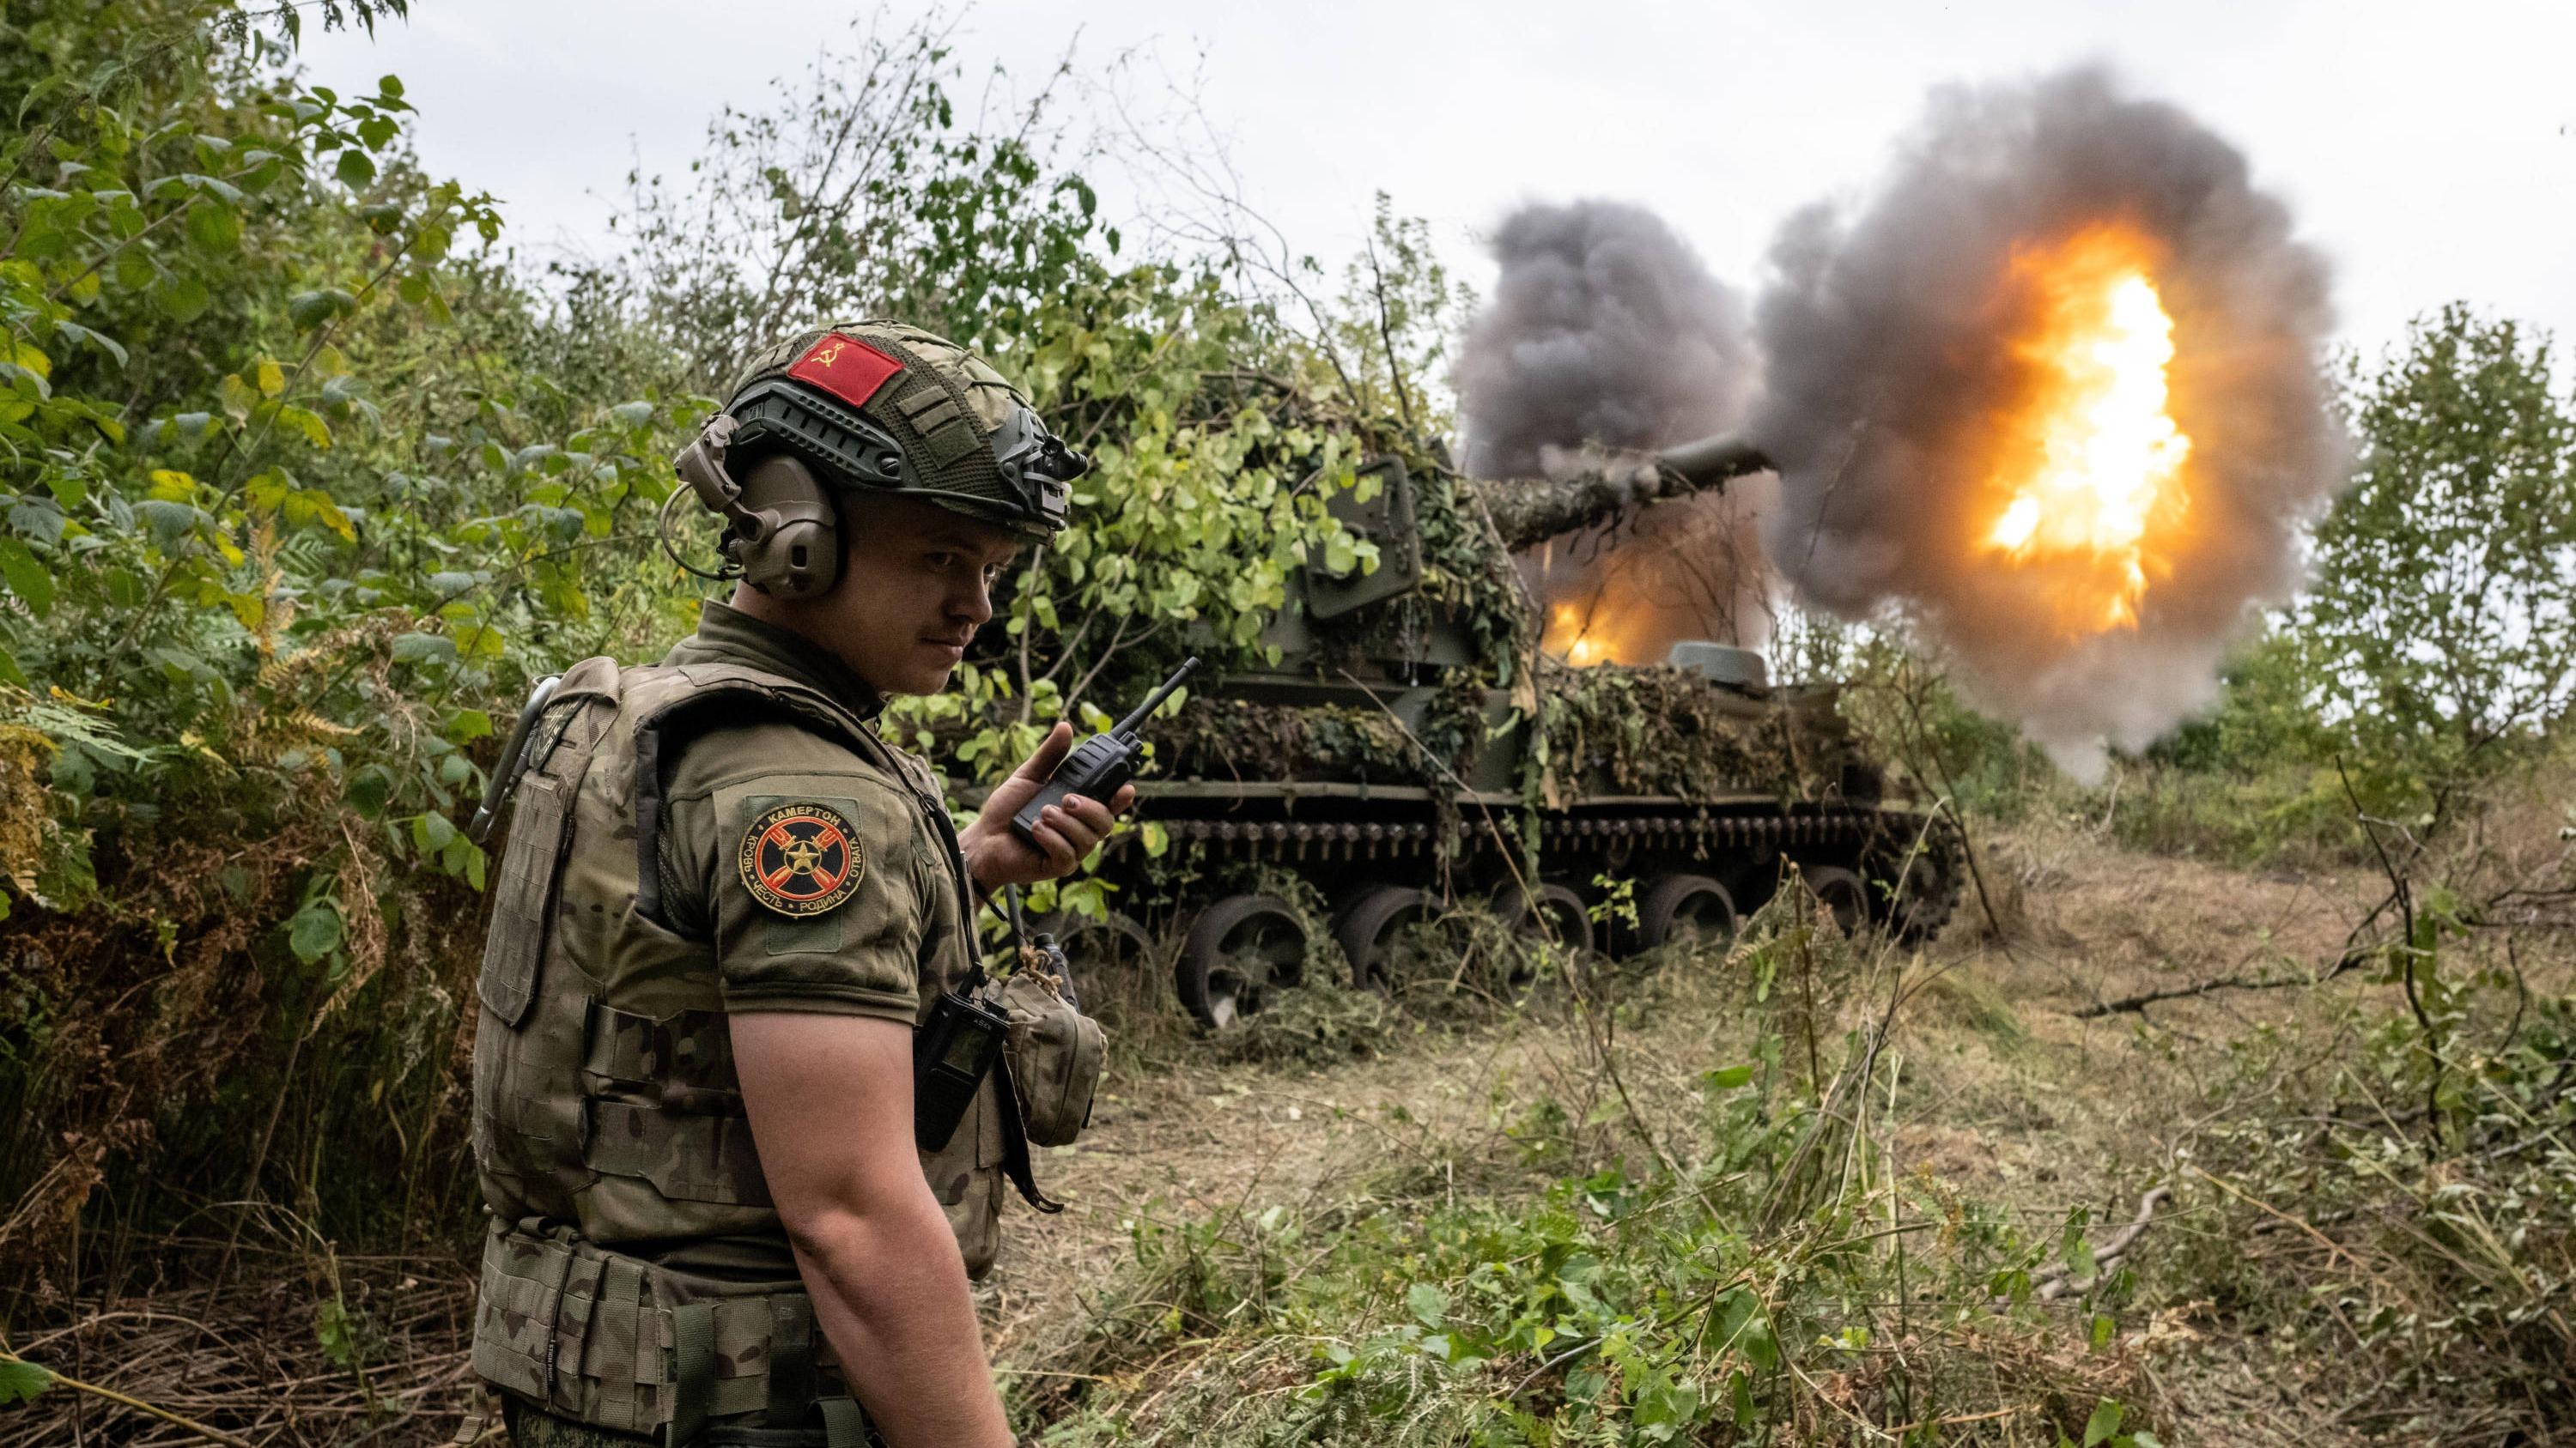
[[[760,1170],[850,1391],[891,1448],[1010,1448],[966,1265],[912,1147],[912,1031],[737,1013]]]

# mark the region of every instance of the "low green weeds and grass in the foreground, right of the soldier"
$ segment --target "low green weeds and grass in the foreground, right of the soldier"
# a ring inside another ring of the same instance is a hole
[[[1886,1175],[1880,1025],[1819,1038],[1886,969],[1790,902],[1723,969],[1759,1025],[1698,1064],[1680,1129],[1535,1100],[1504,1126],[1528,1170],[1484,1190],[1409,1170],[1445,1144],[1396,1134],[1342,1201],[1141,1214],[1084,1342],[1020,1378],[1023,1420],[1066,1445],[2151,1445],[2120,1407],[2146,1394],[2128,1281],[2087,1219],[2027,1234]],[[2035,1304],[2050,1262],[2089,1314]]]

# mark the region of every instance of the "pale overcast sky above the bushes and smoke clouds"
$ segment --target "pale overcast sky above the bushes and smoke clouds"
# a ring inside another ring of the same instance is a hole
[[[894,5],[899,15],[922,5]],[[523,252],[598,247],[629,165],[680,173],[724,100],[762,106],[868,5],[415,0],[410,23],[307,44],[317,82],[397,72],[435,173],[505,201]],[[1394,193],[1471,283],[1517,201],[1664,214],[1734,286],[1777,222],[1878,175],[1924,93],[2110,62],[2233,139],[2336,263],[2365,348],[2447,299],[2576,340],[2576,5],[984,0],[984,67],[1074,46],[1195,75],[1247,198],[1340,260]],[[1115,204],[1115,198],[1113,198]]]

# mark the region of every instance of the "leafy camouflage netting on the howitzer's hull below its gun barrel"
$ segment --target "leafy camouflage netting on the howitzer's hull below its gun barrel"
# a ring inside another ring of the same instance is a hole
[[[1543,662],[1548,778],[1574,794],[1770,794],[1808,799],[1839,778],[1850,737],[1829,693],[1775,696],[1747,716],[1703,678],[1674,667]]]

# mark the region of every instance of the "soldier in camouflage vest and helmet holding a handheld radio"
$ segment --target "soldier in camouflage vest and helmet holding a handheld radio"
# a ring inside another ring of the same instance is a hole
[[[1043,974],[984,982],[971,917],[1072,871],[1133,791],[1012,835],[1059,724],[956,832],[871,719],[945,688],[1084,461],[963,348],[855,322],[762,353],[677,466],[726,520],[732,600],[659,665],[541,688],[495,773],[474,1368],[526,1448],[1007,1445],[969,1278],[1005,1175],[1054,1211],[1028,1139],[1079,1129],[1100,1028]],[[966,1085],[917,1121],[948,992],[1007,1049],[940,1049]]]

